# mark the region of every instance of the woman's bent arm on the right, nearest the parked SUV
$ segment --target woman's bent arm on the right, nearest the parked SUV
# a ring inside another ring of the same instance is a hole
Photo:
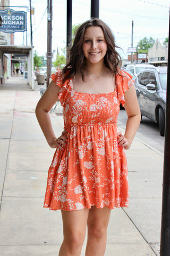
[[[128,115],[128,120],[126,122],[125,134],[122,135],[121,132],[118,132],[117,137],[118,146],[129,149],[141,120],[140,109],[137,101],[137,93],[134,86],[131,86],[130,89],[125,92],[124,99],[124,108]]]

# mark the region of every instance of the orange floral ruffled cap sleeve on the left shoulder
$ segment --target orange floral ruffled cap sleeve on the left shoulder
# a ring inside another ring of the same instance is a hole
[[[56,85],[61,87],[60,91],[58,92],[58,100],[60,100],[61,105],[64,106],[66,95],[72,89],[72,87],[71,87],[71,79],[70,80],[66,80],[63,83],[64,75],[62,73],[62,70],[60,70],[60,69],[58,69],[56,71],[56,73],[52,74],[51,78],[52,78],[52,80],[54,81],[54,83]]]

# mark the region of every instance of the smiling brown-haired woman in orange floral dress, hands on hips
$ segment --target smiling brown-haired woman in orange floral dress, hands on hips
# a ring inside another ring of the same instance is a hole
[[[99,19],[84,22],[70,60],[38,102],[36,115],[50,147],[57,148],[48,172],[44,207],[61,209],[64,240],[59,255],[80,255],[88,227],[86,256],[104,255],[111,209],[128,207],[129,149],[140,123],[130,75],[118,69],[114,36]],[[65,130],[57,139],[48,112],[60,99]],[[117,132],[120,103],[128,114]]]

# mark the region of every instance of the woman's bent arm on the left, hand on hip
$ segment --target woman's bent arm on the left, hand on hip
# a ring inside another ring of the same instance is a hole
[[[48,142],[48,145],[52,148],[60,148],[63,150],[62,146],[65,146],[66,137],[64,136],[65,132],[57,139],[53,131],[52,123],[48,112],[54,106],[58,100],[58,92],[60,87],[57,86],[54,81],[52,81],[43,96],[37,103],[36,107],[36,117],[38,123],[43,131],[45,138]]]

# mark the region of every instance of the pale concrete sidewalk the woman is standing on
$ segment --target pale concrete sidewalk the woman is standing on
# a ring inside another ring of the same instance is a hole
[[[55,150],[47,145],[35,116],[40,87],[35,83],[31,91],[21,77],[0,87],[0,256],[58,255],[63,238],[61,212],[43,208]],[[56,111],[50,117],[58,137],[63,116]],[[136,138],[126,153],[130,206],[112,210],[105,255],[158,256],[163,154]],[[86,241],[82,256],[85,247]]]

